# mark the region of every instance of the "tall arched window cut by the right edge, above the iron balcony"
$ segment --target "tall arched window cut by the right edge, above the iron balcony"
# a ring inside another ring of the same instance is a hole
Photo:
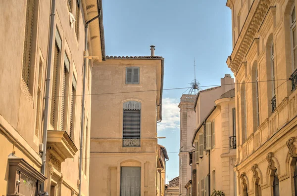
[[[296,37],[296,12],[295,2],[293,3],[290,13],[290,27],[291,27],[291,45],[292,45],[292,66],[293,71],[297,68],[297,37]]]

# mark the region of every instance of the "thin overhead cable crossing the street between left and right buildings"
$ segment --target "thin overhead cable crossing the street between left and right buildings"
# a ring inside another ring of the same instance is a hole
[[[262,80],[262,81],[250,81],[250,82],[239,82],[239,83],[233,83],[233,84],[217,84],[217,85],[205,85],[205,86],[199,86],[199,87],[218,87],[218,86],[226,86],[226,85],[237,85],[237,84],[248,84],[248,83],[260,83],[260,82],[270,82],[270,81],[280,81],[280,80],[290,80],[290,78],[286,78],[286,79],[271,79],[271,80]],[[285,82],[286,82],[285,81]],[[285,83],[283,82],[283,83]],[[282,84],[283,84],[282,83]],[[281,85],[282,85],[281,84]],[[279,87],[279,86],[278,86]],[[278,88],[277,87],[277,88]],[[181,88],[165,88],[165,89],[162,89],[163,91],[165,90],[180,90],[180,89],[189,89],[191,87],[181,87]],[[137,91],[127,91],[127,92],[110,92],[110,93],[94,93],[94,94],[85,94],[85,96],[90,96],[90,95],[111,95],[111,94],[126,94],[126,93],[137,93],[137,92],[153,92],[153,91],[160,91],[161,89],[154,89],[154,90],[137,90]],[[65,95],[65,97],[69,97],[71,95]],[[76,97],[77,96],[82,96],[81,95],[75,95]],[[55,96],[55,97],[62,97],[62,96]],[[51,98],[51,96],[49,97]]]

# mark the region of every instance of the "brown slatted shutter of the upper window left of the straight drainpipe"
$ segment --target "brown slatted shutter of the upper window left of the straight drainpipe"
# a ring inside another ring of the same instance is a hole
[[[29,87],[30,82],[30,64],[32,63],[32,50],[33,50],[33,26],[35,18],[35,0],[27,0],[26,8],[26,26],[25,26],[25,42],[24,42],[24,54],[23,54],[23,68],[22,78]]]

